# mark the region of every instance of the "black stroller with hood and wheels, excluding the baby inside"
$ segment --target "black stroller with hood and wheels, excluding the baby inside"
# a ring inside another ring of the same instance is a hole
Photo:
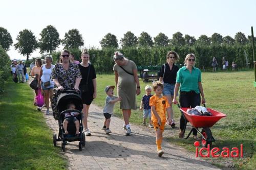
[[[74,91],[74,90],[63,90],[63,91],[57,91],[58,98],[57,98],[57,103],[56,107],[58,110],[58,124],[59,124],[59,134],[58,138],[57,135],[53,135],[53,145],[56,147],[57,141],[61,141],[61,149],[63,152],[65,152],[65,145],[68,142],[72,141],[80,141],[78,144],[79,150],[82,151],[82,147],[86,145],[86,136],[84,133],[82,133],[83,127],[82,127],[82,99],[81,99],[81,94]],[[66,110],[68,103],[74,103],[76,106],[76,110]],[[65,119],[65,113],[67,112],[78,112],[80,113],[79,115],[76,116],[76,118],[79,121],[79,136],[75,135],[76,134],[76,127],[74,123],[69,123],[68,124],[68,132],[69,135],[66,135],[63,129],[63,121]]]

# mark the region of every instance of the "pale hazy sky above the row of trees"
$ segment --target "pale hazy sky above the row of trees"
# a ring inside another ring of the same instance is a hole
[[[127,31],[137,37],[144,31],[152,39],[160,32],[172,38],[178,31],[195,38],[214,33],[234,38],[237,32],[251,35],[252,26],[256,34],[253,0],[2,0],[0,4],[0,27],[8,30],[14,43],[24,29],[31,30],[38,40],[48,25],[57,29],[60,39],[78,29],[86,48],[100,48],[99,41],[108,33],[116,35],[119,42]],[[8,55],[26,59],[13,46]],[[30,58],[39,56],[37,50]]]

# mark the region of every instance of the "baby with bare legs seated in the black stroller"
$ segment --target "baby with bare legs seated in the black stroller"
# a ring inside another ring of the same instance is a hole
[[[74,103],[69,103],[67,109],[69,110],[74,110],[76,108],[76,106],[74,105]],[[63,129],[65,130],[65,134],[68,135],[68,124],[73,122],[76,126],[76,135],[79,135],[79,121],[76,118],[76,116],[79,115],[78,112],[66,112],[65,113],[65,119],[63,121]]]

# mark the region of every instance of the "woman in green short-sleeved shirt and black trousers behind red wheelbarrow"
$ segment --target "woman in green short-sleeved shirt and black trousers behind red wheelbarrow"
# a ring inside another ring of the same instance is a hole
[[[180,88],[180,106],[195,108],[200,106],[200,93],[202,95],[202,104],[205,103],[204,91],[201,83],[201,71],[195,67],[196,57],[194,54],[188,54],[184,61],[184,66],[177,72],[177,79],[174,88],[174,99],[173,103],[177,104],[177,93]],[[185,128],[185,119],[181,115],[180,117],[180,133],[179,138],[183,138]],[[197,131],[193,131],[194,139],[200,140],[197,137]]]

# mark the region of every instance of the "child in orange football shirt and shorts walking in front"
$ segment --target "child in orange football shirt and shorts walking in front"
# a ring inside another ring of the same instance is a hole
[[[155,95],[150,98],[150,106],[152,112],[152,124],[156,131],[156,144],[157,144],[157,151],[158,156],[161,157],[164,152],[161,148],[162,139],[163,139],[163,131],[164,125],[166,122],[166,115],[165,112],[167,110],[167,121],[172,121],[170,119],[170,104],[165,96],[162,96],[163,92],[163,83],[162,82],[154,82],[153,89],[155,91]]]

